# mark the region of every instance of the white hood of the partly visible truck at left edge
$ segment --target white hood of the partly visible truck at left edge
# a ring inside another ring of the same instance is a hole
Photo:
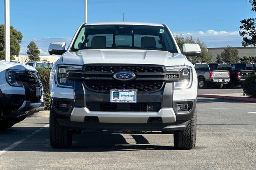
[[[25,64],[19,64],[19,63],[12,63],[7,61],[0,61],[0,71],[6,70],[6,69],[17,69],[17,70],[34,70],[36,69],[32,66],[25,65]]]

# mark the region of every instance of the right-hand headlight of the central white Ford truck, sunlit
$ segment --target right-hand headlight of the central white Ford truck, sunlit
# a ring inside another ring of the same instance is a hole
[[[192,84],[192,67],[190,66],[172,66],[166,67],[167,71],[181,71],[182,78],[174,82],[174,89],[188,89]]]

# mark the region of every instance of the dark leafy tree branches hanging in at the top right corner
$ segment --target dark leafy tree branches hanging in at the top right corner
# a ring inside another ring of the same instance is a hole
[[[256,0],[249,0],[252,5],[252,11],[256,12]],[[248,45],[256,46],[256,18],[244,19],[241,22],[239,34],[243,37],[242,45],[244,47]]]

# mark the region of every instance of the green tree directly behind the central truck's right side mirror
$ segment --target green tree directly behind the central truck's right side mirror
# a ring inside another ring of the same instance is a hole
[[[204,42],[202,42],[199,38],[197,40],[194,40],[191,36],[184,38],[182,36],[177,35],[177,36],[175,36],[175,40],[178,43],[178,46],[181,51],[183,51],[182,45],[184,43],[197,43],[200,46],[201,51],[202,51],[201,55],[188,57],[188,60],[190,62],[192,62],[192,63],[199,63],[199,62],[210,63],[212,61],[212,55],[209,53]]]

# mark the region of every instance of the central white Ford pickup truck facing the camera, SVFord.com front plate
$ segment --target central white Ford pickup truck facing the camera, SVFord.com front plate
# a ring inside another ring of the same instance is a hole
[[[197,44],[184,44],[198,55]],[[163,24],[82,24],[50,74],[50,142],[68,148],[72,131],[160,130],[174,132],[174,146],[196,142],[197,76]]]

